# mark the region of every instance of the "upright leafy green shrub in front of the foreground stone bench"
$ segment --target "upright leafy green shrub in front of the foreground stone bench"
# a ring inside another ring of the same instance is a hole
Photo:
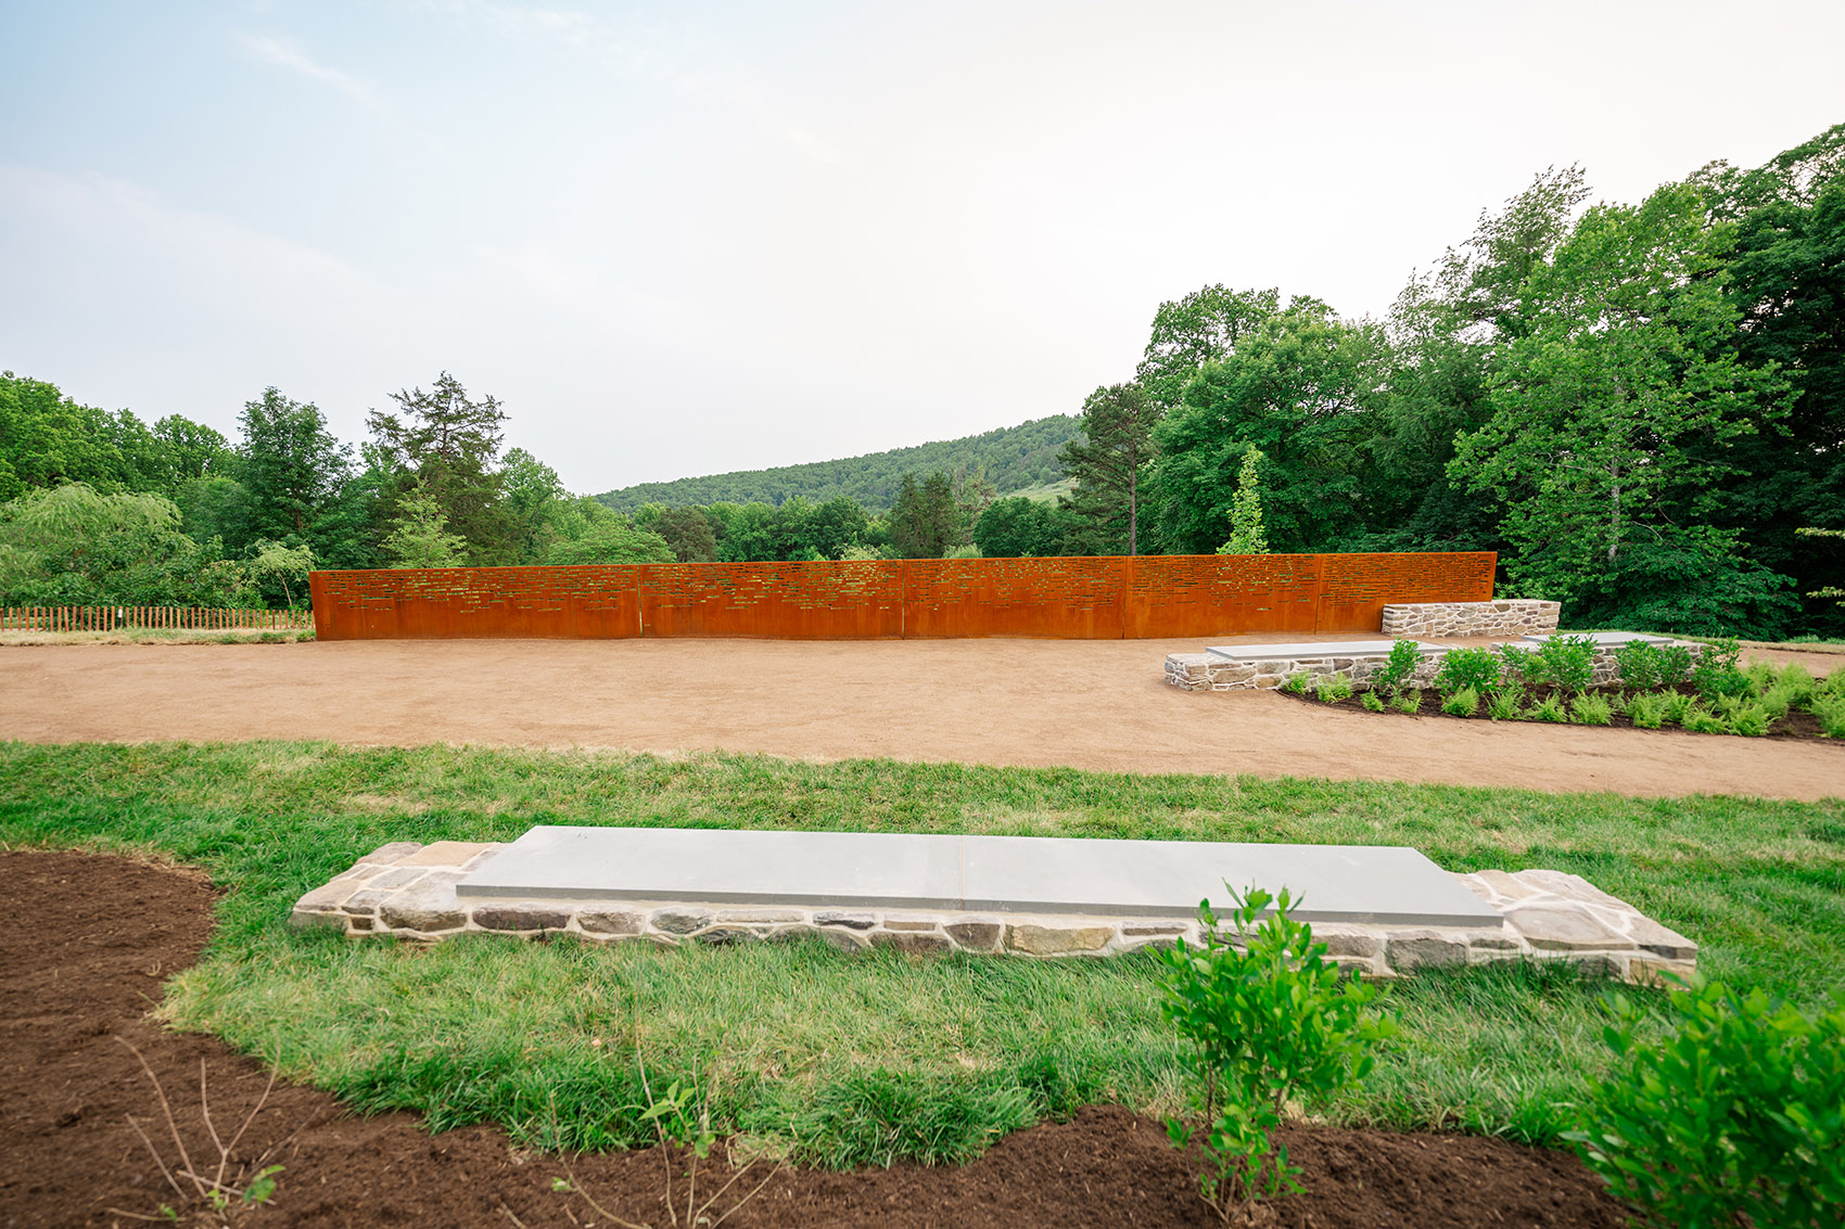
[[[1177,1118],[1166,1129],[1179,1148],[1203,1135],[1210,1168],[1199,1187],[1225,1220],[1232,1209],[1247,1216],[1256,1199],[1301,1190],[1288,1150],[1271,1140],[1282,1107],[1362,1080],[1369,1050],[1395,1033],[1371,1011],[1376,991],[1327,963],[1327,945],[1288,915],[1293,904],[1286,889],[1277,899],[1251,888],[1236,897],[1227,939],[1210,902],[1199,902],[1203,947],[1179,939],[1159,958],[1161,1013],[1190,1043],[1203,1111],[1201,1133]]]

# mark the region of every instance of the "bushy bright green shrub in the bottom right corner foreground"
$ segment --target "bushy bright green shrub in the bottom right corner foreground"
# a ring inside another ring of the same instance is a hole
[[[1673,1033],[1614,1000],[1616,1068],[1566,1139],[1655,1225],[1836,1225],[1845,1205],[1845,1008],[1803,1015],[1756,989],[1694,982]]]

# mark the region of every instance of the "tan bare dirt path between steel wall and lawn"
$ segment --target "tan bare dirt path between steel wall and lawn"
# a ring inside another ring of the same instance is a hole
[[[1845,746],[1830,742],[1373,720],[1268,692],[1166,686],[1164,655],[1201,650],[1197,640],[0,648],[0,738],[725,749],[1640,797],[1845,795]],[[1758,655],[1819,674],[1839,666],[1823,653]]]

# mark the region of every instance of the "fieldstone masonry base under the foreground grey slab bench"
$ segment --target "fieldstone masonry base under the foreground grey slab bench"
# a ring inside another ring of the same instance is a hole
[[[819,939],[843,952],[887,947],[913,954],[982,952],[1039,958],[1114,956],[1175,937],[1199,939],[1196,921],[1074,913],[959,913],[917,910],[731,908],[686,901],[483,901],[456,884],[502,845],[399,841],[360,858],[295,902],[297,926],[347,936],[434,941],[459,934],[583,941],[786,943]],[[1690,976],[1697,945],[1625,901],[1561,871],[1480,871],[1456,877],[1504,915],[1493,926],[1315,923],[1314,936],[1343,969],[1391,978],[1437,965],[1493,960],[1566,960],[1625,982],[1660,972]]]

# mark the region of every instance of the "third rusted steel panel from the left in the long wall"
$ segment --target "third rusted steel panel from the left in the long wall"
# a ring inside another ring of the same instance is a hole
[[[910,559],[904,638],[1120,640],[1127,561]]]

